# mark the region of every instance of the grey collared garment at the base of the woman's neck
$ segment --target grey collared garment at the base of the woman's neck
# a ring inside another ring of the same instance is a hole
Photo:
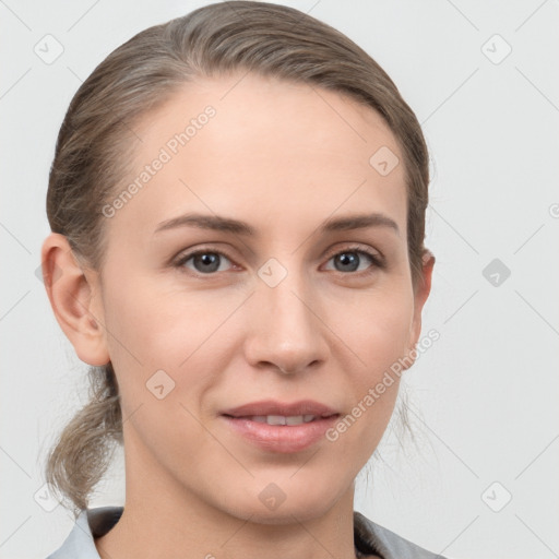
[[[46,559],[100,559],[94,537],[105,535],[120,519],[123,507],[98,507],[81,511],[61,547]],[[376,524],[354,511],[357,557],[378,555],[383,559],[444,559]]]

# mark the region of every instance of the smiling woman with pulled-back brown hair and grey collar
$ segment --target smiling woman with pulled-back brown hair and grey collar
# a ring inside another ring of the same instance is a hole
[[[47,194],[94,389],[49,455],[78,516],[49,557],[435,557],[353,509],[417,355],[428,182],[390,78],[297,10],[218,2],[111,52]],[[114,441],[124,507],[88,509]]]

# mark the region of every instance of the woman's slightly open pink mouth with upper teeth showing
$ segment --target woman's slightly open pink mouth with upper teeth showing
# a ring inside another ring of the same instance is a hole
[[[233,433],[266,452],[294,453],[317,444],[340,413],[313,401],[257,402],[221,414]]]

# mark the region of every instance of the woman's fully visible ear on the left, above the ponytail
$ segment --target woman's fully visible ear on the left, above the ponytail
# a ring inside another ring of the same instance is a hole
[[[50,306],[78,357],[88,365],[106,365],[110,357],[102,326],[98,274],[88,270],[86,276],[68,239],[58,233],[45,239],[40,258]]]

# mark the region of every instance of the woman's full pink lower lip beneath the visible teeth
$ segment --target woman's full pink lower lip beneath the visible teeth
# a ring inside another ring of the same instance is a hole
[[[337,420],[337,415],[301,425],[267,425],[247,417],[222,415],[229,427],[261,449],[272,452],[299,452],[317,443]]]

